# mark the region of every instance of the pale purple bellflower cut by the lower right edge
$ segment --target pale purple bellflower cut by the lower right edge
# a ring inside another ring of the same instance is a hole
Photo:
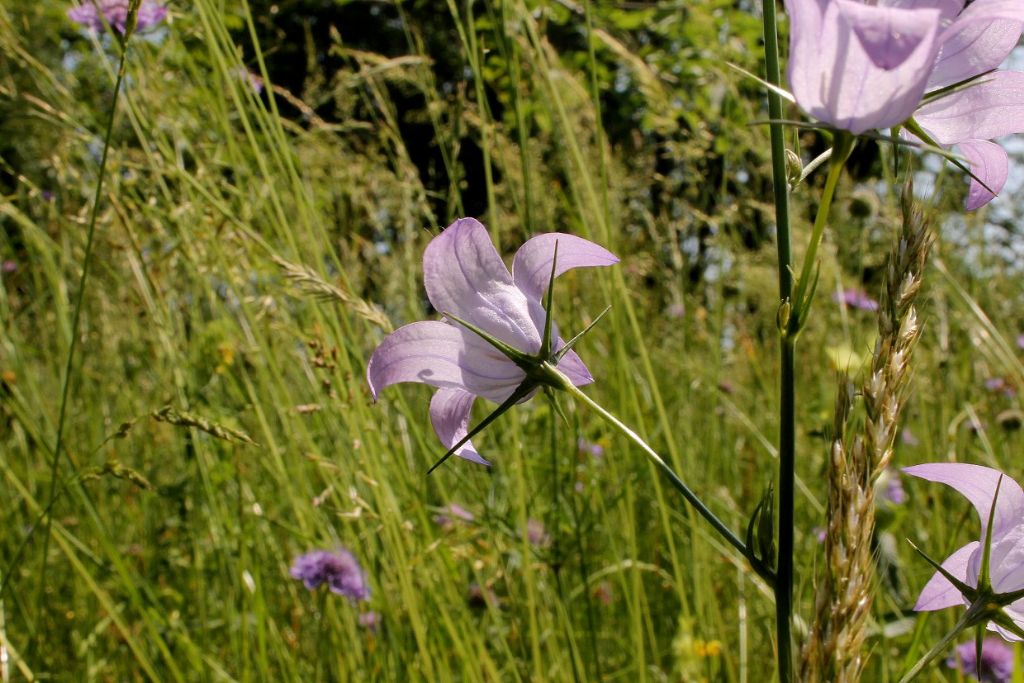
[[[972,541],[947,557],[942,562],[945,571],[972,588],[983,583],[978,578],[983,564],[985,539],[988,536],[988,519],[991,516],[991,591],[999,595],[1024,589],[1024,490],[1019,483],[998,470],[965,463],[928,463],[907,467],[903,472],[955,488],[974,505],[981,517],[980,540]],[[942,572],[936,571],[925,585],[913,608],[918,611],[932,611],[963,604],[971,604],[969,597]],[[1024,627],[1024,598],[1004,605],[1002,612],[1018,627]],[[998,624],[989,624],[988,629],[1007,640],[1022,640]]]

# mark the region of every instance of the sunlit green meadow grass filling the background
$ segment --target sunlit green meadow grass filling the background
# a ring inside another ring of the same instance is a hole
[[[118,50],[109,37],[69,28],[62,3],[0,6],[0,94],[18,114],[5,124],[5,134],[18,131],[5,148],[19,155],[2,160],[0,199],[0,257],[15,265],[0,280],[4,680],[768,680],[770,590],[597,416],[560,399],[563,420],[535,399],[477,439],[494,468],[452,461],[426,476],[441,455],[429,391],[370,397],[374,347],[429,312],[420,259],[466,210],[460,145],[469,139],[483,156],[478,217],[504,254],[558,229],[623,259],[558,282],[566,332],[612,306],[580,348],[597,378],[587,392],[737,532],[774,476],[772,246],[719,229],[696,284],[693,254],[681,247],[699,226],[755,214],[770,223],[768,196],[759,203],[731,180],[698,181],[696,195],[678,199],[692,211],[650,210],[657,151],[630,153],[605,131],[596,51],[631,71],[650,116],[687,104],[633,53],[628,31],[602,25],[606,14],[587,3],[566,19],[585,36],[586,58],[560,54],[545,11],[569,3],[552,5],[439,3],[473,75],[456,93],[438,86],[413,22],[397,56],[337,40],[331,49],[344,67],[304,92],[274,88],[265,68],[273,55],[254,41],[244,1],[172,5],[158,35],[133,37],[62,455],[59,397]],[[726,29],[756,16],[722,2],[689,11],[692,31],[708,24],[709,47],[678,58],[699,62],[702,86],[721,91],[718,104],[700,101],[700,115],[717,105],[729,122],[764,118],[762,99],[744,98],[756,86],[715,66],[756,44],[737,48],[736,38],[712,33],[722,27],[716,11],[732,13]],[[62,32],[62,42],[47,32]],[[67,55],[38,56],[43,43]],[[493,79],[494,60],[505,80]],[[240,69],[266,89],[254,90]],[[484,90],[496,82],[505,88],[501,118]],[[414,163],[409,145],[421,141],[402,136],[396,91],[425,102],[430,144],[451,178],[443,196]],[[316,105],[329,100],[336,115],[324,120]],[[737,147],[723,153],[733,160],[723,177],[746,169],[752,184],[763,180],[767,129],[694,123],[675,131],[690,148],[681,157],[722,135]],[[838,211],[857,218],[826,234],[822,291],[797,368],[803,620],[823,558],[814,529],[825,525],[833,366],[866,357],[874,329],[871,314],[830,295],[879,267],[899,224],[896,199],[869,187],[841,184]],[[866,213],[854,211],[858,201]],[[937,223],[955,201],[932,203]],[[814,193],[798,189],[794,202],[801,245]],[[708,206],[716,213],[702,214]],[[969,219],[969,230],[978,225]],[[895,464],[955,457],[1017,473],[1008,411],[1018,399],[981,382],[1024,386],[1019,276],[992,258],[977,278],[941,242],[932,263],[905,413],[916,443],[899,442]],[[984,428],[970,429],[974,422]],[[869,617],[865,680],[898,678],[955,618],[905,613],[931,572],[902,540],[944,557],[975,532],[962,501],[906,485],[912,512],[894,509],[887,520],[892,583],[880,583]],[[475,519],[436,523],[452,503]],[[541,543],[527,537],[530,520],[546,529]],[[369,603],[309,592],[289,575],[296,555],[336,546],[367,569]],[[380,613],[378,629],[359,625],[367,610]],[[941,667],[928,675],[944,676]]]

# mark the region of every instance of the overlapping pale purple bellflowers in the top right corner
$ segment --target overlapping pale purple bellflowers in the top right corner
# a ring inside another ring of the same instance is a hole
[[[1024,3],[965,5],[790,0],[788,80],[804,112],[841,130],[859,135],[912,118],[937,144],[955,145],[976,176],[974,210],[1007,180],[1007,154],[991,139],[1024,130],[1024,74],[993,71],[1017,45]]]

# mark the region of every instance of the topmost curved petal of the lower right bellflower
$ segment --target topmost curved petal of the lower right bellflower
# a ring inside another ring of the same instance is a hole
[[[995,503],[992,535],[998,537],[1020,521],[1024,512],[1024,490],[1020,484],[991,467],[968,463],[926,463],[904,467],[903,471],[929,481],[938,481],[955,488],[971,501],[981,517],[981,537],[985,536],[988,514],[992,508],[995,486],[999,486],[999,498]],[[999,479],[1002,479],[999,483]]]

